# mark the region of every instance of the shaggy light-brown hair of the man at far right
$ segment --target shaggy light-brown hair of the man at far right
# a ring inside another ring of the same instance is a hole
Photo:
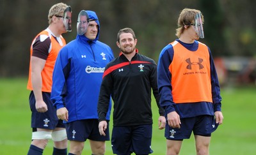
[[[195,24],[195,16],[197,13],[201,13],[200,10],[184,8],[180,11],[179,19],[177,22],[178,28],[176,29],[176,36],[180,38],[181,34],[184,32],[184,26],[191,26]],[[204,16],[201,13],[202,22],[204,23]]]

